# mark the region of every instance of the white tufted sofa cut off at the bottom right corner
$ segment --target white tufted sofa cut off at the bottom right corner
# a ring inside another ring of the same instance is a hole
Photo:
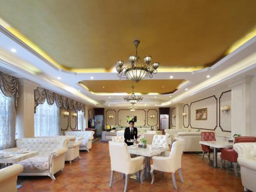
[[[236,143],[233,146],[238,153],[241,167],[241,179],[245,191],[256,191],[256,143]]]

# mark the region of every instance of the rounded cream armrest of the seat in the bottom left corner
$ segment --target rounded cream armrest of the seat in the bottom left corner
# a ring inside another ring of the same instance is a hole
[[[14,164],[0,170],[0,182],[3,182],[13,176],[23,172],[24,167],[21,164]]]

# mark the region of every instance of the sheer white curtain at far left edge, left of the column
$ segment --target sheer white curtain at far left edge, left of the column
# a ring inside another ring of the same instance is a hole
[[[16,110],[13,97],[0,90],[0,150],[14,147]]]

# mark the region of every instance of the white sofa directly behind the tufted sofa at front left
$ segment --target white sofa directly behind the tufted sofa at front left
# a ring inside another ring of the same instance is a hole
[[[60,136],[39,136],[36,138],[46,138],[46,137],[48,138],[60,137],[60,138],[69,139],[68,152],[65,155],[65,161],[69,161],[69,163],[72,163],[72,161],[77,157],[81,159],[79,155],[79,146],[82,144],[82,141],[81,141],[83,139],[82,137],[76,138],[76,136],[60,135]]]

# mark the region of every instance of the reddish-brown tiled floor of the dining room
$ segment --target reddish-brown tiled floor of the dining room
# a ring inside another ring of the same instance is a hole
[[[109,187],[110,157],[108,143],[97,141],[93,143],[90,153],[81,152],[80,160],[72,164],[66,163],[62,173],[55,175],[56,180],[50,177],[19,177],[23,187],[18,192],[30,191],[123,191],[124,180],[122,175],[115,174],[113,186]],[[120,162],[122,163],[122,162]],[[202,160],[197,154],[183,154],[182,172],[185,183],[181,183],[176,176],[178,191],[243,191],[241,178],[230,174],[228,170],[212,168],[207,164],[207,158]],[[165,173],[156,174],[155,183],[151,185],[151,178],[140,184],[129,180],[127,191],[177,191],[174,189],[172,177]]]

